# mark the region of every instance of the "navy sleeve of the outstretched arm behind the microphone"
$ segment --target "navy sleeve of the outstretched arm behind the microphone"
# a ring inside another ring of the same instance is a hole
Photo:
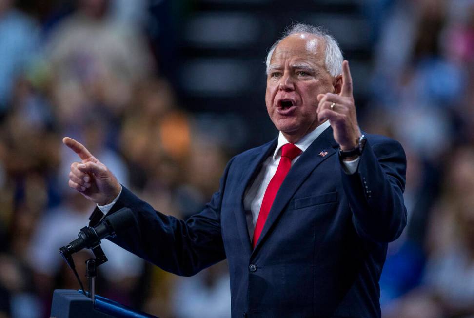
[[[228,163],[219,190],[203,211],[186,221],[165,215],[122,186],[122,193],[108,213],[130,208],[136,225],[110,240],[165,271],[191,276],[226,258],[220,230],[220,207]]]

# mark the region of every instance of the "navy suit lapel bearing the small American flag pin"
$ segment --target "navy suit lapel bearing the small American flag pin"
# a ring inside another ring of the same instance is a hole
[[[255,247],[252,255],[255,253],[255,251],[257,251],[259,246],[265,240],[265,237],[271,230],[275,221],[278,219],[278,216],[293,197],[296,190],[321,162],[336,153],[336,149],[334,149],[336,147],[338,147],[338,144],[333,138],[333,129],[332,127],[329,127],[323,131],[315,141],[313,141],[308,149],[306,149],[306,151],[291,167],[288,175],[281,184],[280,189],[276,193],[275,201],[273,202],[272,208],[270,209],[270,213],[267,217],[265,225],[263,226],[262,233],[260,234],[257,246]]]

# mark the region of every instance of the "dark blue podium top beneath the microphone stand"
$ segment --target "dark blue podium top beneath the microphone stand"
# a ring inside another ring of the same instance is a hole
[[[157,318],[98,295],[95,300],[93,304],[80,290],[56,289],[51,318]]]

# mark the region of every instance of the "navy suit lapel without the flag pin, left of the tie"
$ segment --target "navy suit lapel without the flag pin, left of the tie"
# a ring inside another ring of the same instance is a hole
[[[274,139],[272,142],[262,146],[262,151],[257,155],[250,157],[247,161],[244,162],[242,166],[242,175],[238,183],[237,198],[240,200],[240,210],[236,211],[237,219],[237,229],[242,240],[242,245],[248,254],[250,254],[252,249],[252,244],[250,242],[249,230],[247,226],[247,219],[245,217],[245,209],[243,205],[243,199],[245,195],[245,190],[251,185],[250,182],[255,179],[257,174],[261,170],[262,163],[267,159],[275,150],[278,139]]]

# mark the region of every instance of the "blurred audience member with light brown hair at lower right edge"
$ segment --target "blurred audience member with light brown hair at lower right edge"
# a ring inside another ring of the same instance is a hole
[[[474,148],[459,148],[452,160],[428,224],[423,282],[396,301],[387,317],[474,315]]]

